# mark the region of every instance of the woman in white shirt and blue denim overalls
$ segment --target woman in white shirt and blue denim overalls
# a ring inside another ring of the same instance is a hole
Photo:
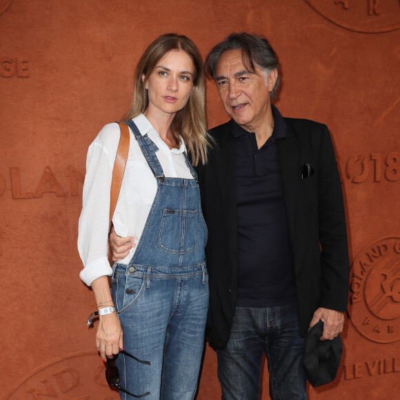
[[[123,119],[130,127],[130,150],[112,223],[137,246],[111,270],[116,123],[105,126],[88,150],[79,219],[85,267],[80,277],[92,286],[97,308],[110,312],[99,317],[96,347],[103,361],[123,348],[150,361],[148,366],[119,354],[119,385],[129,392],[150,392],[147,399],[192,399],[208,308],[207,230],[186,149],[194,165],[206,161],[208,136],[203,64],[190,39],[165,34],[150,44],[138,63],[132,106]]]

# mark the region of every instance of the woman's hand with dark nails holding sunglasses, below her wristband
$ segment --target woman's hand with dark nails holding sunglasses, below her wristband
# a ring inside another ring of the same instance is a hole
[[[122,329],[117,312],[100,316],[96,333],[96,348],[104,362],[106,362],[106,357],[112,359],[113,354],[118,354],[119,349],[123,349]]]

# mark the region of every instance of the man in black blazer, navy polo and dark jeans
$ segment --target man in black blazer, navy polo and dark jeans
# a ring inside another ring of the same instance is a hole
[[[279,72],[266,39],[231,34],[210,50],[206,72],[232,118],[210,131],[216,143],[198,168],[208,226],[207,336],[222,398],[259,398],[265,352],[270,397],[306,399],[303,337],[322,320],[321,340],[334,339],[348,298],[346,221],[330,135],[271,105]]]

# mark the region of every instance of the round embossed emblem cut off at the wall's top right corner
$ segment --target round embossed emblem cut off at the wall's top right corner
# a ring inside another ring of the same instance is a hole
[[[381,33],[400,28],[399,0],[304,0],[342,28]]]

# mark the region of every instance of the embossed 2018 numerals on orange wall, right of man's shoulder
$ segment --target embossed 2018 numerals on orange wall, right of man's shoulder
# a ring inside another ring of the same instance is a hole
[[[374,182],[398,181],[400,179],[399,157],[399,152],[355,154],[348,159],[347,177],[354,183],[364,182],[368,177],[372,177]]]

